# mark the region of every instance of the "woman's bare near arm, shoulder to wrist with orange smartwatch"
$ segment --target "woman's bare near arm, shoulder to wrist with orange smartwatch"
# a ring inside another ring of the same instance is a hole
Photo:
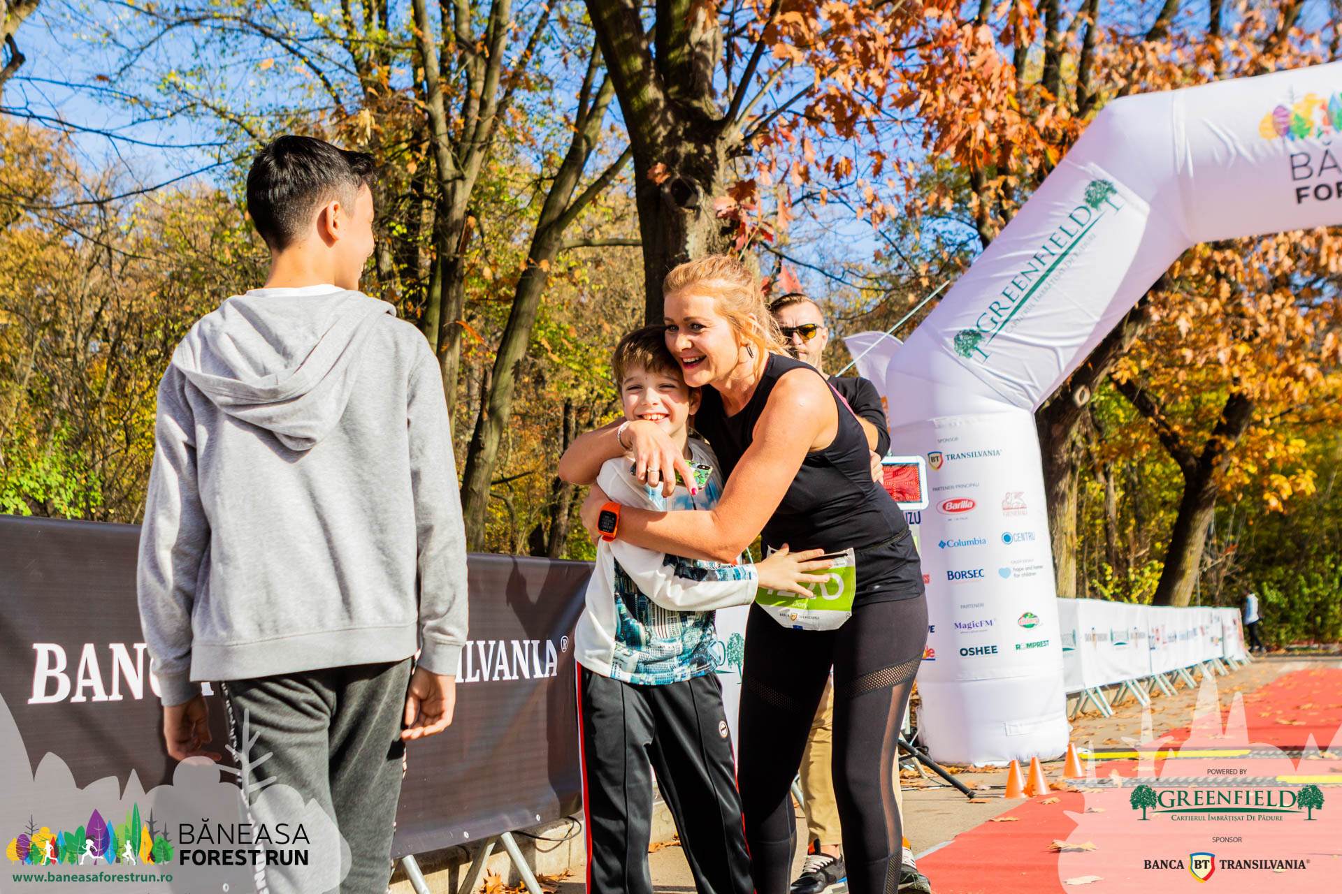
[[[660,552],[733,562],[782,503],[807,453],[824,449],[837,433],[839,413],[824,379],[809,370],[785,373],[769,394],[753,442],[717,507],[707,512],[623,508],[619,537]],[[582,504],[582,524],[589,531],[596,529],[604,503],[605,496],[593,488]]]

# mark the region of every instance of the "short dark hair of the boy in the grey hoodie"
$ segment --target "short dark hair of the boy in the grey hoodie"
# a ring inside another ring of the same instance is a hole
[[[353,201],[360,186],[373,188],[377,162],[325,139],[285,134],[256,153],[247,173],[247,213],[274,251],[303,235],[313,209],[331,198]]]

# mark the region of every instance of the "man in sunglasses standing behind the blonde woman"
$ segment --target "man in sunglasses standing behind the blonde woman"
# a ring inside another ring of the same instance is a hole
[[[769,304],[769,312],[778,322],[788,353],[803,363],[809,363],[824,374],[824,353],[829,343],[820,306],[801,292],[789,292]],[[876,386],[859,375],[829,375],[829,383],[848,402],[863,432],[874,462],[890,450],[890,429],[886,409]],[[839,832],[839,807],[835,803],[833,779],[829,772],[831,743],[833,740],[833,688],[825,688],[820,708],[811,725],[807,751],[801,756],[803,810],[807,814],[807,859],[801,875],[792,883],[789,894],[820,894],[831,885],[847,878]],[[895,780],[898,783],[898,777]],[[898,792],[898,787],[895,788]],[[896,804],[902,800],[896,795]],[[905,854],[899,873],[899,890],[930,894],[931,883],[914,865],[913,850],[905,840]]]

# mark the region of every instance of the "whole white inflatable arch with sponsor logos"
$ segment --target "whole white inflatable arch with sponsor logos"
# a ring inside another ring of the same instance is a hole
[[[1108,103],[886,369],[891,450],[929,460],[933,757],[1067,748],[1033,411],[1198,243],[1342,222],[1342,63]]]

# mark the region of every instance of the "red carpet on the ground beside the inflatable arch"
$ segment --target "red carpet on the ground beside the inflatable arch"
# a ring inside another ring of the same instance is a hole
[[[1220,680],[1219,680],[1220,682]],[[1158,706],[1159,698],[1154,702]],[[1125,710],[1131,709],[1125,708]],[[1228,710],[1223,710],[1225,722]],[[1303,748],[1312,735],[1321,749],[1327,749],[1342,728],[1342,670],[1312,669],[1298,670],[1284,674],[1274,682],[1244,696],[1244,716],[1248,722],[1248,741],[1256,745],[1274,745],[1276,748]],[[1229,732],[1229,730],[1228,730]],[[1169,745],[1182,744],[1189,740],[1192,730],[1189,726],[1168,733]],[[1231,743],[1224,743],[1231,744]],[[1243,743],[1241,743],[1243,744]],[[1197,743],[1202,745],[1201,737]],[[1209,747],[1215,744],[1208,743]],[[1302,772],[1315,773],[1342,773],[1342,739],[1335,744],[1337,759],[1323,761],[1310,761],[1308,767],[1295,769],[1296,761],[1256,760],[1252,763],[1229,759],[1196,760],[1181,759],[1173,761],[1157,761],[1157,773],[1166,776],[1201,776],[1208,767],[1247,765],[1247,772],[1253,776],[1275,776],[1279,773]],[[1164,767],[1173,764],[1172,767]],[[1176,769],[1177,767],[1177,769]],[[1049,781],[1060,781],[1062,763],[1056,761],[1045,765]],[[1135,760],[1111,760],[1096,765],[1095,776],[1107,777],[1113,771],[1123,776],[1137,775]],[[1147,771],[1149,773],[1149,771]],[[1005,771],[1002,772],[1005,783]],[[1084,784],[1084,783],[1082,783]],[[1172,848],[1181,847],[1178,856],[1185,863],[1189,859],[1188,840],[1200,840],[1194,850],[1205,850],[1219,854],[1220,859],[1227,855],[1247,856],[1278,856],[1291,852],[1291,848],[1300,848],[1300,830],[1310,832],[1308,840],[1329,840],[1330,844],[1317,848],[1317,856],[1307,858],[1308,866],[1303,870],[1288,870],[1274,875],[1271,870],[1236,873],[1233,867],[1228,871],[1213,873],[1206,879],[1209,891],[1253,890],[1247,887],[1249,877],[1256,879],[1255,885],[1263,881],[1276,882],[1279,886],[1290,887],[1292,894],[1312,890],[1338,890],[1342,887],[1342,858],[1337,852],[1342,847],[1342,836],[1337,835],[1338,826],[1329,823],[1329,812],[1319,808],[1314,820],[1325,820],[1321,824],[1300,826],[1303,818],[1299,815],[1278,819],[1291,822],[1278,823],[1240,823],[1228,824],[1232,831],[1247,832],[1243,835],[1244,844],[1213,844],[1212,835],[1201,835],[1202,831],[1223,831],[1223,826],[1215,830],[1197,823],[1170,823],[1170,816],[1159,818],[1162,822],[1137,822],[1138,814],[1127,803],[1131,788],[1103,793],[1082,792],[1053,792],[1057,803],[1044,804],[1043,797],[1035,797],[1002,814],[1013,818],[1015,822],[985,822],[968,832],[956,836],[951,844],[929,854],[918,860],[918,869],[931,879],[933,890],[937,894],[1040,894],[1053,891],[1165,891],[1165,890],[1201,890],[1201,882],[1188,871],[1151,870],[1143,866],[1147,858],[1176,856]],[[1323,788],[1325,796],[1333,803],[1331,815],[1342,822],[1342,788]],[[1094,815],[1084,815],[1087,807],[1104,804]],[[1070,852],[1059,855],[1048,850],[1053,840],[1067,840],[1078,830],[1078,820],[1086,822],[1086,828],[1080,830],[1074,840],[1076,843],[1092,842],[1095,851]],[[1245,818],[1248,819],[1248,818]],[[1292,838],[1294,836],[1294,838]],[[1239,850],[1236,850],[1239,848]],[[1326,852],[1331,850],[1333,852]],[[1060,860],[1063,860],[1060,863]],[[1267,879],[1264,879],[1264,873]],[[1062,879],[1098,875],[1099,881],[1086,885],[1063,885]]]

